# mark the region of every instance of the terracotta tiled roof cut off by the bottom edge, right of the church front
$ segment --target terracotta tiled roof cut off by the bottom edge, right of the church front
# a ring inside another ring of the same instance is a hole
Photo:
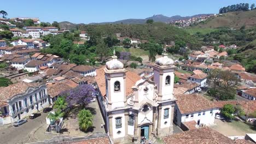
[[[183,133],[173,134],[165,136],[163,138],[166,144],[228,144],[234,143],[229,137],[220,134],[219,132],[203,127],[199,129],[193,129],[184,131]]]

